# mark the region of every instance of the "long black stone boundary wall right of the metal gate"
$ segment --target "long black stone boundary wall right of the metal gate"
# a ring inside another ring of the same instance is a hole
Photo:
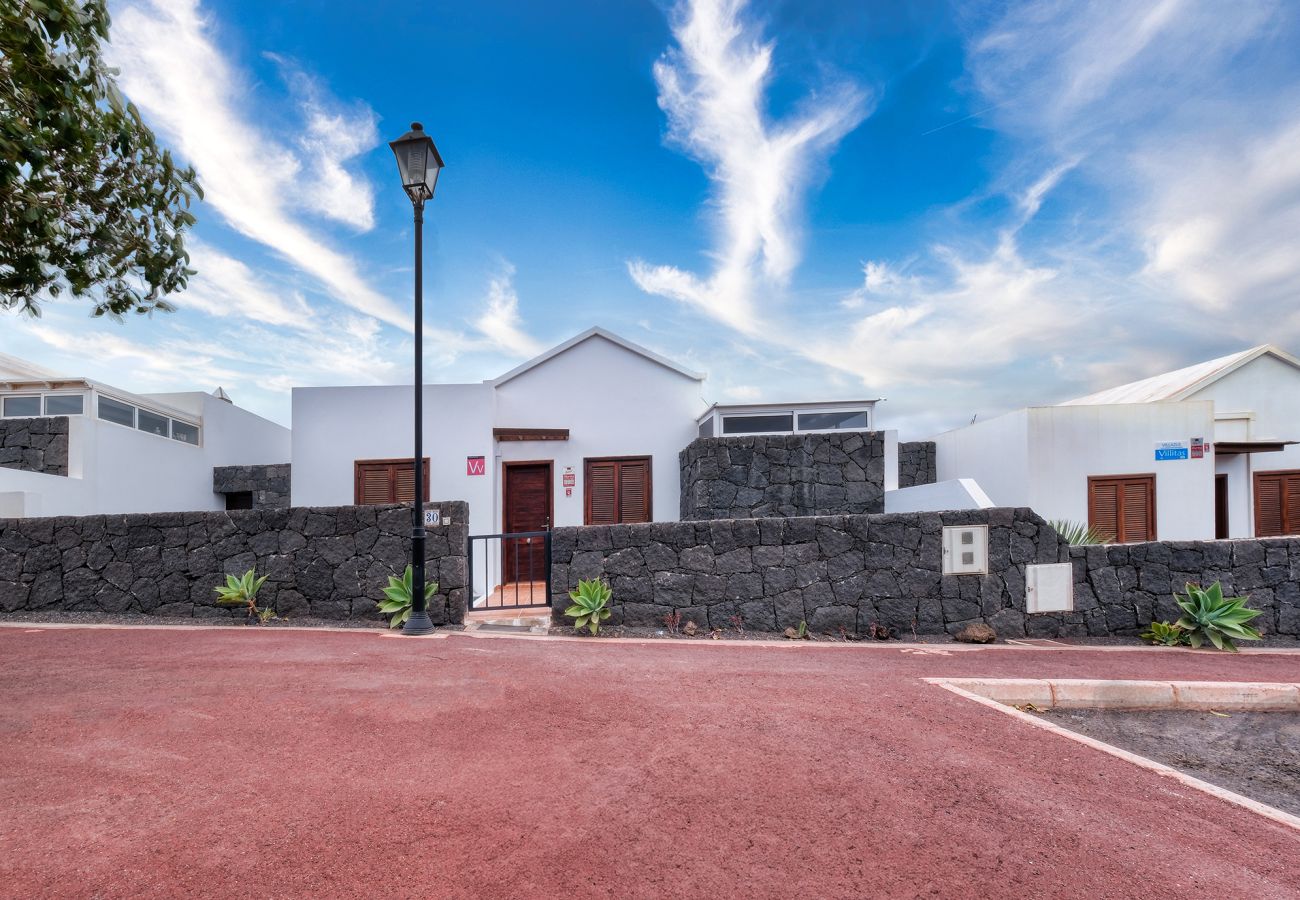
[[[988,575],[942,575],[944,525],[987,524]],[[1300,538],[1070,548],[1027,509],[766,518],[556,528],[552,618],[578,579],[614,589],[611,624],[907,637],[971,623],[1002,637],[1135,635],[1176,619],[1171,593],[1221,580],[1264,610],[1269,633],[1300,635]],[[1074,563],[1075,609],[1027,614],[1028,563]]]

